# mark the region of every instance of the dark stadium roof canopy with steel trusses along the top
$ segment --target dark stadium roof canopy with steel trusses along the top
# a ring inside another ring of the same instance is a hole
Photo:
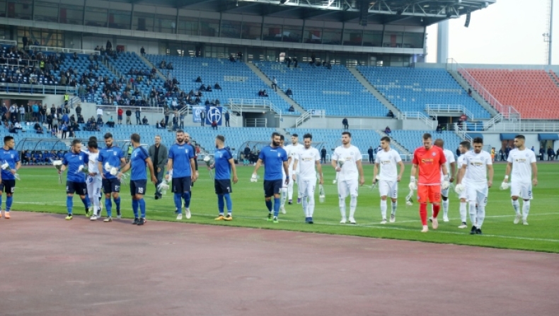
[[[115,0],[113,0],[115,1]],[[177,9],[238,13],[323,21],[359,21],[361,6],[368,6],[368,21],[376,24],[429,26],[459,18],[497,0],[117,0]]]

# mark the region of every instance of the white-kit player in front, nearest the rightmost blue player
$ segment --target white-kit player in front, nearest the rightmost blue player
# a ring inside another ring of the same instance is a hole
[[[316,188],[316,172],[320,178],[319,183],[323,184],[324,179],[322,176],[321,154],[318,149],[311,147],[313,142],[313,135],[305,134],[303,136],[303,149],[296,152],[293,156],[295,162],[293,164],[293,180],[299,176],[299,197],[303,203],[303,212],[305,213],[305,222],[313,223],[314,213],[314,191]],[[316,170],[314,167],[316,166]],[[299,170],[299,174],[297,174]]]

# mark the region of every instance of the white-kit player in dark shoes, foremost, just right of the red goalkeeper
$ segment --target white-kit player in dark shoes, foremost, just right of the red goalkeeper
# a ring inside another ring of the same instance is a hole
[[[470,202],[471,235],[481,235],[481,225],[485,219],[485,205],[488,201],[489,188],[493,184],[493,162],[491,154],[482,150],[483,139],[473,139],[473,152],[466,152],[460,171],[460,179],[465,179],[468,186],[456,185],[456,193],[466,191]],[[478,205],[476,211],[476,204]]]

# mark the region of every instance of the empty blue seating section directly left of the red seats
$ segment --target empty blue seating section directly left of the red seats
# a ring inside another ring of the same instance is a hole
[[[425,113],[427,104],[461,105],[475,119],[491,117],[446,69],[364,66],[357,69],[400,111]]]

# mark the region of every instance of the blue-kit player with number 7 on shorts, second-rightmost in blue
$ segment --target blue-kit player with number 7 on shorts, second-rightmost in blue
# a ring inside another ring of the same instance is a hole
[[[215,137],[214,163],[208,169],[215,169],[214,188],[217,194],[217,208],[219,216],[215,220],[233,220],[233,203],[229,193],[233,192],[231,187],[231,171],[233,171],[233,183],[236,184],[237,169],[231,154],[231,149],[225,147],[225,137],[217,135]],[[227,216],[224,217],[224,198],[227,204]]]

